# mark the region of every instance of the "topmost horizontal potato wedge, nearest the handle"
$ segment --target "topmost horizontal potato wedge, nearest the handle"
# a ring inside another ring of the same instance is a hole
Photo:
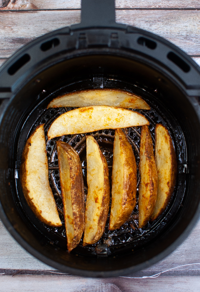
[[[108,105],[132,109],[150,109],[138,95],[120,89],[89,89],[70,92],[54,98],[48,107],[88,107]]]

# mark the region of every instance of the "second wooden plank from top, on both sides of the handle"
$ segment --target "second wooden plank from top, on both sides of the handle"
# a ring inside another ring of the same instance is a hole
[[[80,11],[1,11],[0,58],[12,55],[32,39],[80,22]],[[117,22],[154,32],[190,55],[200,55],[200,11],[116,11]]]

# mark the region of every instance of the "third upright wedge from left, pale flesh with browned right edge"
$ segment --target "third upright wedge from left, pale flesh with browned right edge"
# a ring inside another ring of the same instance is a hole
[[[86,201],[84,246],[97,242],[102,236],[110,201],[106,159],[92,136],[87,136],[86,144],[88,195]]]

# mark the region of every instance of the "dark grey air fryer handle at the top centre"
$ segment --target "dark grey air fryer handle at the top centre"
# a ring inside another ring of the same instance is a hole
[[[115,22],[115,0],[81,0],[81,23],[72,29],[85,27],[120,27]]]

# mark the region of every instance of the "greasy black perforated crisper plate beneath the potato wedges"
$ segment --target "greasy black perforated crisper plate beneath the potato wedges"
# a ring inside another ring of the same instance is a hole
[[[118,84],[116,81],[115,86]],[[122,86],[124,84],[124,87]],[[119,82],[121,89],[127,90],[128,85],[123,82]],[[76,90],[79,89],[77,84],[75,84]],[[122,86],[122,87],[121,87]],[[130,85],[130,91],[132,90],[133,85]],[[83,88],[82,88],[83,89]],[[170,114],[166,108],[159,103],[159,100],[156,99],[158,97],[154,97],[152,93],[148,93],[146,89],[143,91],[135,86],[134,89],[139,95],[144,95],[145,100],[150,105],[150,110],[139,110],[139,109],[132,109],[133,111],[137,111],[148,119],[149,121],[149,130],[152,136],[153,147],[154,147],[154,128],[156,123],[162,123],[164,126],[168,128],[168,131],[172,137],[172,142],[175,147],[175,151],[178,157],[178,164],[179,166],[185,165],[185,157],[186,157],[186,148],[184,142],[184,136],[178,125],[177,121],[174,117]],[[139,92],[140,90],[140,92]],[[58,92],[55,93],[58,96]],[[143,97],[144,97],[143,96]],[[48,95],[48,101],[52,100],[53,96]],[[52,122],[60,115],[69,110],[74,109],[74,107],[60,107],[60,108],[50,108],[46,109],[47,102],[45,99],[39,105],[38,116],[37,119],[34,120],[31,126],[31,130],[29,133],[38,126],[39,124],[45,124],[44,130],[46,135],[46,151],[48,157],[48,168],[49,168],[49,181],[50,186],[53,191],[53,195],[56,201],[56,205],[59,211],[60,219],[62,221],[61,227],[50,227],[39,220],[33,220],[33,215],[28,211],[26,207],[26,202],[20,189],[20,185],[17,185],[17,192],[18,197],[20,200],[20,204],[22,204],[22,208],[26,213],[27,217],[30,220],[30,223],[33,225],[33,228],[40,230],[44,237],[47,238],[50,244],[57,246],[56,248],[61,248],[62,250],[67,250],[67,239],[66,239],[66,231],[65,231],[65,223],[64,223],[64,216],[63,216],[63,204],[61,199],[61,189],[60,189],[60,175],[58,169],[58,156],[56,150],[56,141],[62,140],[64,142],[69,143],[76,152],[79,154],[82,172],[83,172],[83,179],[84,179],[84,192],[85,192],[85,202],[87,198],[87,161],[86,161],[86,135],[92,135],[98,142],[102,153],[104,154],[108,168],[109,168],[109,179],[110,179],[110,190],[111,190],[111,176],[112,176],[112,162],[113,162],[113,142],[114,142],[114,130],[113,129],[105,129],[100,130],[92,133],[83,133],[83,134],[76,134],[76,135],[65,135],[62,137],[53,138],[50,141],[47,139],[47,131]],[[37,107],[36,107],[37,108]],[[30,119],[32,119],[32,115],[30,115]],[[27,119],[28,121],[29,119]],[[132,145],[133,152],[135,154],[136,164],[137,164],[137,186],[140,183],[140,176],[139,176],[139,151],[140,151],[140,132],[141,127],[131,127],[123,129],[124,133],[126,134],[130,144]],[[18,149],[20,148],[20,144],[24,143],[24,139],[19,139]],[[22,147],[23,149],[23,147]],[[19,150],[18,150],[19,152]],[[20,165],[20,156],[19,162],[17,164]],[[181,167],[179,167],[182,169]],[[180,173],[181,174],[181,173]],[[154,222],[149,222],[145,227],[138,228],[138,190],[137,190],[137,204],[135,209],[133,210],[130,218],[124,223],[120,229],[110,231],[108,230],[109,224],[109,214],[108,220],[105,227],[105,232],[103,233],[101,239],[93,245],[82,246],[82,239],[80,244],[71,252],[80,255],[87,255],[87,256],[96,256],[98,254],[107,256],[107,255],[117,255],[124,252],[127,248],[133,248],[134,250],[141,248],[149,241],[152,241],[164,228],[168,225],[171,218],[175,215],[178,208],[180,207],[182,197],[185,192],[185,176],[178,175],[177,183],[175,186],[175,190],[173,192],[172,198],[170,203],[168,204],[164,213]],[[111,207],[111,201],[110,201]],[[31,219],[32,218],[32,219]],[[133,250],[132,249],[132,250]]]

